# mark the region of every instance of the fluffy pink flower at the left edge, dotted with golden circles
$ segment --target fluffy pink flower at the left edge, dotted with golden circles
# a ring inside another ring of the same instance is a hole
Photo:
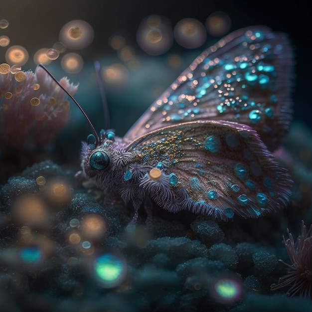
[[[34,73],[6,71],[0,71],[0,146],[20,149],[50,142],[68,123],[67,95],[40,67]],[[67,78],[59,82],[72,95],[77,91]]]

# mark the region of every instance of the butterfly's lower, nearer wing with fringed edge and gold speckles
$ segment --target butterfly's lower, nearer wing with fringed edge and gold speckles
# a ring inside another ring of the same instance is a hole
[[[126,150],[140,165],[161,168],[164,187],[152,181],[149,195],[169,211],[185,209],[227,220],[233,213],[258,217],[289,201],[287,170],[245,125],[183,123],[148,133]]]

